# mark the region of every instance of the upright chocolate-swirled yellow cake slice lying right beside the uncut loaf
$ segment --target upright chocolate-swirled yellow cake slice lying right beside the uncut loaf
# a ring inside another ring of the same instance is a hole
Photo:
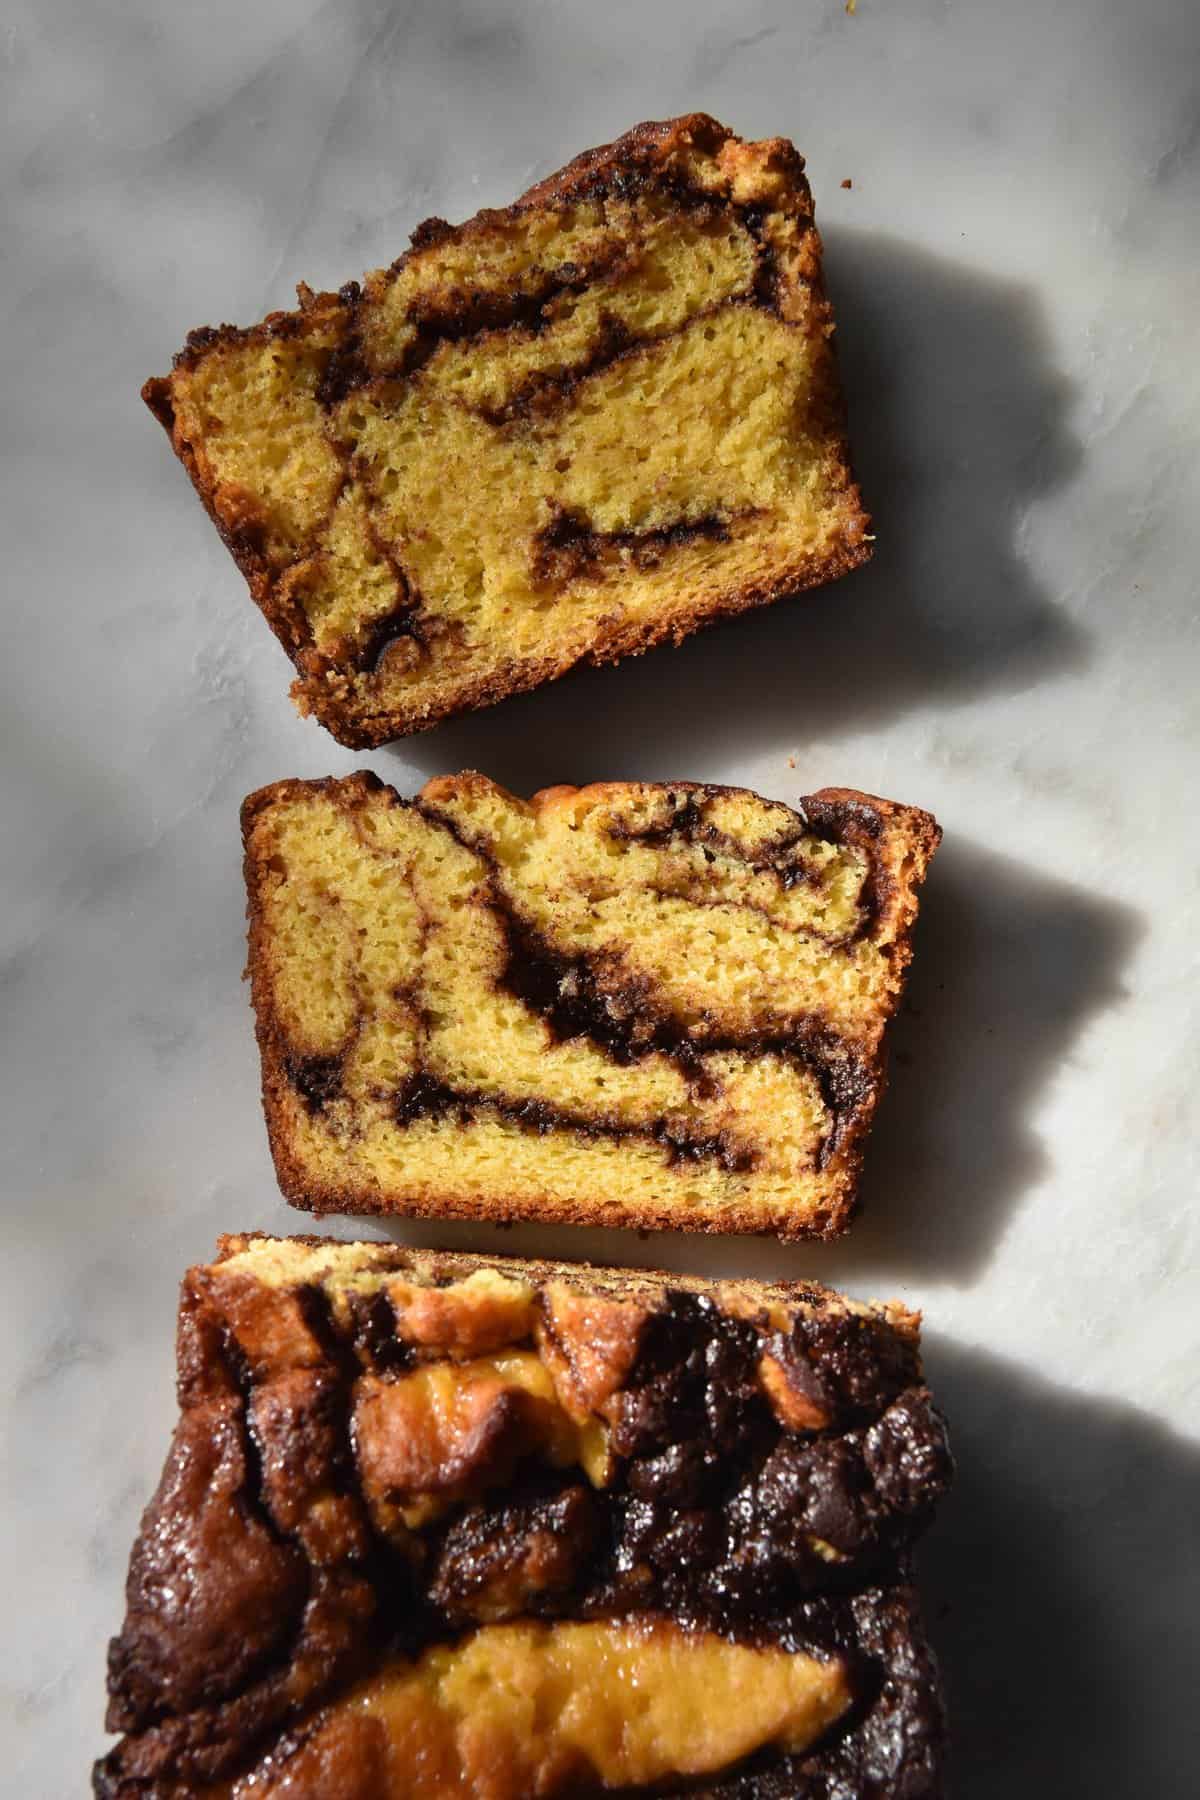
[[[342,1213],[846,1228],[925,812],[479,774],[243,806],[281,1186]]]

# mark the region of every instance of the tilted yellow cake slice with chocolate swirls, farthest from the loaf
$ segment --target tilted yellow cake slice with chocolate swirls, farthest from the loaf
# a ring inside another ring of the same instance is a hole
[[[693,113],[144,398],[299,670],[374,745],[869,554],[804,160]]]

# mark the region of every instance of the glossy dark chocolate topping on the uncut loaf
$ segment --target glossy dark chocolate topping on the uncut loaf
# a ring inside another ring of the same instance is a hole
[[[846,1660],[855,1706],[828,1741],[698,1791],[939,1793],[941,1706],[909,1559],[952,1465],[914,1341],[885,1318],[810,1303],[781,1325],[667,1289],[648,1312],[617,1305],[604,1337],[599,1314],[543,1300],[529,1318],[547,1354],[570,1348],[569,1328],[608,1343],[612,1373],[590,1390],[612,1390],[597,1400],[606,1478],[547,1462],[533,1415],[509,1402],[462,1440],[448,1501],[401,1528],[372,1474],[396,1454],[378,1408],[435,1357],[401,1337],[389,1294],[335,1309],[311,1283],[196,1274],[180,1337],[191,1404],[110,1654],[108,1723],[130,1735],[97,1766],[99,1796],[236,1777],[383,1658],[515,1616],[666,1616]],[[781,1408],[813,1424],[790,1429]]]

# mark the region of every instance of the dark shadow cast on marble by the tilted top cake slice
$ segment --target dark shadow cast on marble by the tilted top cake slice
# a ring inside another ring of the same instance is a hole
[[[1079,463],[1034,290],[869,232],[831,232],[828,256],[873,563],[408,740],[408,767],[479,767],[518,792],[720,776],[1087,662],[1022,556],[1027,513]]]

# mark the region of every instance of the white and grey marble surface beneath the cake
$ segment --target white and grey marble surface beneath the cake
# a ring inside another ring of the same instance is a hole
[[[961,1458],[927,1555],[959,1793],[1195,1793],[1195,0],[16,0],[5,20],[5,1791],[81,1793],[103,1746],[180,1271],[225,1228],[295,1222],[239,983],[237,803],[369,761],[407,788],[468,763],[524,790],[833,781],[937,812],[844,1247],[441,1235],[923,1305]],[[394,751],[338,749],[291,715],[140,382],[201,320],[336,286],[428,212],[689,108],[808,153],[874,565]]]

